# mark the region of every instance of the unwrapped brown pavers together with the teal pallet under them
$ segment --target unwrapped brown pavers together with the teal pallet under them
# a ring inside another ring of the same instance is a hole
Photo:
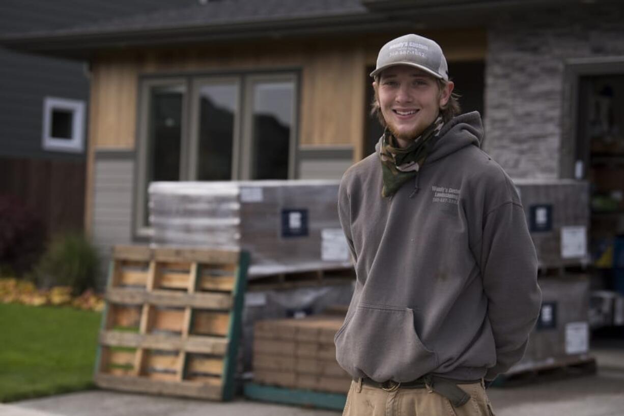
[[[251,399],[343,409],[351,377],[336,362],[334,335],[343,316],[258,321]]]

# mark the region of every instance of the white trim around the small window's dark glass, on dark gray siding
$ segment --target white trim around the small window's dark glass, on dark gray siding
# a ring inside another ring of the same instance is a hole
[[[52,112],[55,109],[69,110],[72,113],[72,138],[69,140],[52,136]],[[41,146],[44,150],[68,153],[84,152],[84,115],[84,100],[44,97],[41,138]]]

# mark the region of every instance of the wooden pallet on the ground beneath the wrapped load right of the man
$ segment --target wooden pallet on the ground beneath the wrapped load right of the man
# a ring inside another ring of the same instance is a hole
[[[515,387],[536,382],[550,382],[595,374],[596,370],[596,360],[593,357],[558,357],[518,369],[512,367],[509,372],[496,377],[492,387]]]

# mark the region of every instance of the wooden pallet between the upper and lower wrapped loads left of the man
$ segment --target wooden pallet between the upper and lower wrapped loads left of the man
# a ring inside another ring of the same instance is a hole
[[[352,283],[355,278],[353,267],[266,274],[251,279],[247,291],[341,285]]]

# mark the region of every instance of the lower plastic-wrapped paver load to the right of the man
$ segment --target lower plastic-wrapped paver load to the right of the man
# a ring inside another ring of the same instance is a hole
[[[590,282],[585,275],[542,278],[542,310],[529,336],[527,351],[509,372],[563,360],[582,359],[589,353]]]

